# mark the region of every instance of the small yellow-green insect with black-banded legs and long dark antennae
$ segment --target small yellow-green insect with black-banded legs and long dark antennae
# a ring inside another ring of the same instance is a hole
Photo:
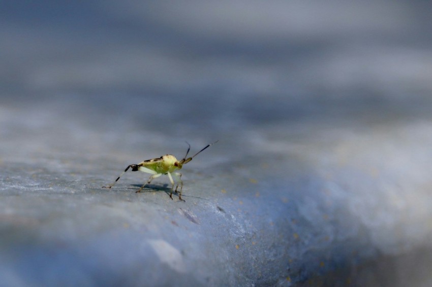
[[[188,158],[188,154],[189,154],[189,151],[191,150],[191,145],[189,145],[189,142],[186,142],[186,143],[188,143],[189,148],[188,148],[188,151],[186,152],[186,156],[184,156],[184,158],[180,161],[178,161],[175,158],[175,156],[173,156],[173,155],[164,155],[164,156],[161,156],[160,158],[153,158],[153,159],[144,160],[138,164],[130,164],[125,169],[125,171],[122,172],[112,184],[110,184],[108,186],[104,186],[102,188],[112,188],[115,185],[115,183],[120,179],[121,175],[123,175],[126,171],[128,171],[129,168],[132,168],[132,171],[138,171],[139,170],[139,171],[143,171],[143,172],[147,172],[147,173],[151,174],[150,177],[148,178],[147,182],[145,184],[143,184],[141,186],[141,188],[138,191],[136,191],[136,193],[141,192],[141,190],[144,188],[144,186],[147,184],[150,184],[151,181],[153,179],[155,179],[156,177],[159,177],[162,174],[166,174],[166,175],[168,175],[168,178],[169,178],[171,185],[172,185],[170,198],[172,199],[172,192],[174,189],[174,180],[173,180],[173,177],[174,177],[175,181],[177,182],[177,185],[175,187],[174,192],[177,193],[178,185],[180,185],[180,192],[178,193],[178,199],[183,200],[183,199],[181,199],[181,191],[183,189],[183,181],[181,180],[181,173],[180,172],[174,172],[174,171],[181,169],[183,167],[183,164],[187,164],[195,156],[197,156],[199,153],[201,153],[202,151],[204,151],[208,147],[214,145],[214,143],[216,143],[218,141],[219,140],[210,143],[205,148],[203,148],[201,151],[199,151],[194,156],[189,157],[189,158]]]

